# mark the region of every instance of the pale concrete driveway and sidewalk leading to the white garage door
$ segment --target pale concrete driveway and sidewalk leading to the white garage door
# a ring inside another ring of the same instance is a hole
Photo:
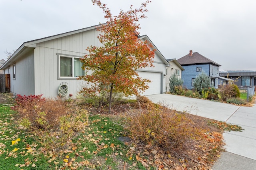
[[[243,132],[223,133],[226,151],[212,167],[213,170],[251,170],[256,167],[256,105],[234,106],[171,94],[146,96],[154,103],[163,103],[171,109],[240,125]],[[254,167],[254,168],[253,168]]]

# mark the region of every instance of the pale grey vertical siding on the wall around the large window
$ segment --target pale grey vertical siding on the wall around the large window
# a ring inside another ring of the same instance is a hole
[[[73,94],[72,98],[77,97],[84,84],[82,80],[57,80],[57,55],[74,55],[83,57],[88,52],[86,48],[90,45],[100,46],[97,38],[99,32],[96,29],[90,31],[44,41],[38,43],[35,53],[35,93],[44,94],[45,97],[57,97],[58,87],[61,82],[68,83],[68,94]],[[68,96],[67,96],[68,97]]]

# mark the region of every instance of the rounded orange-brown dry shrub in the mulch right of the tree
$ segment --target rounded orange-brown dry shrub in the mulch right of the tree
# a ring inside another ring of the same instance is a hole
[[[192,121],[184,113],[178,113],[164,106],[154,109],[128,112],[128,131],[132,138],[145,144],[158,145],[167,152],[182,152],[182,149],[192,148],[192,139],[200,136],[200,130],[194,127]]]

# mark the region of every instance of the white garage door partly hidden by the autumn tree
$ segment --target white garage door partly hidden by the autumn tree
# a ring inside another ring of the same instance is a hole
[[[151,80],[148,84],[149,88],[144,93],[140,95],[151,95],[161,93],[161,73],[158,72],[143,72],[138,71],[139,77]]]

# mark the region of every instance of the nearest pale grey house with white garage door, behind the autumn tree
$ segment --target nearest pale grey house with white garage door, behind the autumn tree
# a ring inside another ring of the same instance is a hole
[[[66,98],[76,98],[85,84],[76,78],[89,71],[82,70],[79,59],[88,54],[88,46],[101,45],[97,38],[100,34],[96,29],[98,26],[24,42],[0,68],[5,74],[10,74],[10,91],[55,98],[60,84],[67,83]],[[138,35],[138,38],[152,43],[147,35]],[[152,80],[150,88],[142,95],[165,92],[164,73],[170,64],[155,46],[154,49],[154,67],[137,70],[140,77]]]

